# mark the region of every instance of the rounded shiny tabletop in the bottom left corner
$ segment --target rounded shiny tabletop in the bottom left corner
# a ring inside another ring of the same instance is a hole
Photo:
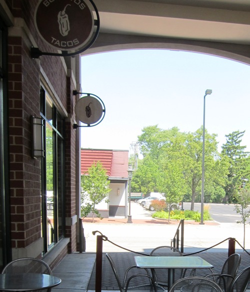
[[[4,273],[0,274],[0,290],[31,291],[47,289],[59,285],[61,279],[39,273]]]

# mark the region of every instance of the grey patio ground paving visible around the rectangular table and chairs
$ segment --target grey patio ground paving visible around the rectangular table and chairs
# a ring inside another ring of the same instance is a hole
[[[120,272],[134,265],[133,256],[130,252],[111,252],[115,264]],[[219,272],[223,262],[227,258],[226,252],[202,252],[196,254],[214,265],[214,271]],[[245,252],[240,252],[241,263],[239,271],[250,264],[250,256]],[[95,290],[95,253],[72,253],[65,258],[52,270],[53,275],[61,278],[61,283],[52,289],[52,292],[80,292]],[[176,274],[177,275],[177,274]],[[203,275],[198,273],[197,275]],[[250,287],[249,287],[250,288]],[[118,287],[109,263],[103,254],[102,270],[102,291],[117,291]]]

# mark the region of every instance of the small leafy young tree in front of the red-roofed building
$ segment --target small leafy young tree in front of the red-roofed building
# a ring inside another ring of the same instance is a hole
[[[106,170],[99,161],[93,163],[87,173],[81,176],[81,217],[92,212],[92,222],[94,214],[101,218],[95,206],[103,199],[108,202],[107,195],[111,190],[108,188],[109,183]]]

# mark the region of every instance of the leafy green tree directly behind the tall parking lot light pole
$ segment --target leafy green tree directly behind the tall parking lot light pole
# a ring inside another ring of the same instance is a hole
[[[203,130],[200,127],[194,133],[186,134],[186,142],[182,154],[183,173],[191,194],[191,207],[194,209],[194,202],[200,202],[201,178],[202,178],[202,144]],[[211,202],[216,196],[216,200],[221,200],[220,186],[225,184],[227,173],[227,160],[220,156],[217,151],[216,135],[209,134],[205,130],[205,152],[204,152],[204,202]]]

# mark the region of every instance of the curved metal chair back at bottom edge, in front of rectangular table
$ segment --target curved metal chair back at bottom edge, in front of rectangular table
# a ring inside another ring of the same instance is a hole
[[[205,277],[184,277],[176,282],[168,289],[168,292],[223,292],[220,286]]]

